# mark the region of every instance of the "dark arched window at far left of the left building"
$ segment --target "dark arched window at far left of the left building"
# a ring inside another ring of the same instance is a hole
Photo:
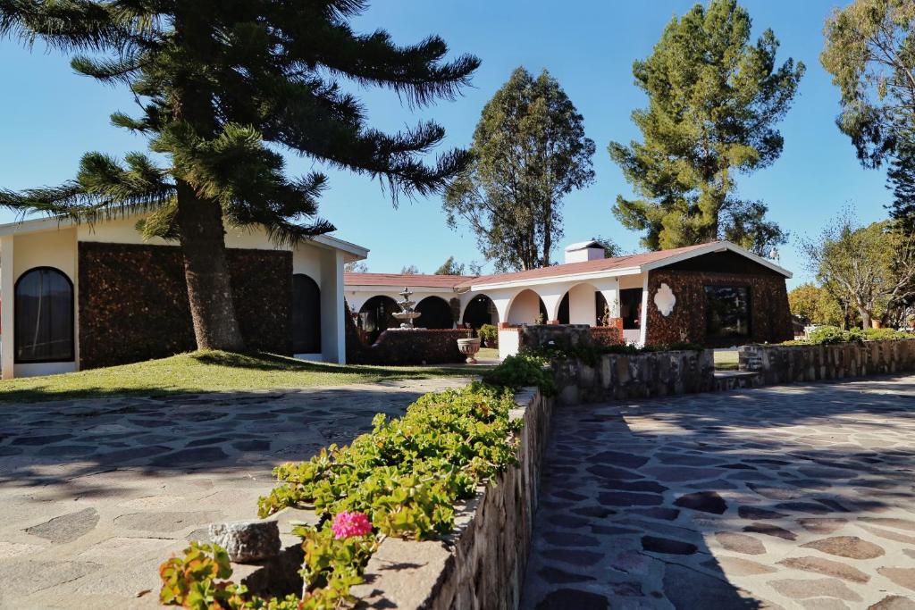
[[[51,267],[16,281],[16,362],[69,362],[73,349],[73,284]]]

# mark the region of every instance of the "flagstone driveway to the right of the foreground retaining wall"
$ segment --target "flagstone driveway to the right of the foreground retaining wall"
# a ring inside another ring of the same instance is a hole
[[[560,409],[523,608],[915,608],[915,377]]]

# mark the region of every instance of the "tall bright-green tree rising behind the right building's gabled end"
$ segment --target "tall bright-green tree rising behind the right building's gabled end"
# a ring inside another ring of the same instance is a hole
[[[639,198],[619,196],[614,214],[646,231],[652,250],[727,239],[763,253],[784,242],[760,201],[737,198],[735,174],[769,166],[781,153],[774,125],[804,72],[776,68],[770,29],[749,43],[750,17],[736,0],[694,5],[673,18],[648,59],[632,66],[649,106],[632,112],[643,142],[611,142],[610,157]]]

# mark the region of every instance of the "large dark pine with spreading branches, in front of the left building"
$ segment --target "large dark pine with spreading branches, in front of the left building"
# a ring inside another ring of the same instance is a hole
[[[280,243],[332,230],[316,219],[326,177],[290,179],[269,144],[331,167],[380,178],[393,198],[439,192],[469,161],[454,150],[427,166],[445,135],[436,123],[400,134],[367,125],[344,84],[385,87],[413,104],[450,99],[479,60],[446,61],[439,37],[395,45],[350,20],[366,0],[0,0],[0,37],[36,40],[104,83],[124,84],[142,112],[112,115],[167,159],[82,158],[77,177],[53,188],[0,191],[0,205],[93,220],[151,212],[138,229],[182,248],[198,348],[238,350],[223,221],[263,227]],[[303,224],[307,222],[307,224]]]

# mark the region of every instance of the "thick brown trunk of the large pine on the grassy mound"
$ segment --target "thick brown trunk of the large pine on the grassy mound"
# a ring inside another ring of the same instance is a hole
[[[222,211],[178,181],[178,235],[198,349],[244,350],[232,302]]]

